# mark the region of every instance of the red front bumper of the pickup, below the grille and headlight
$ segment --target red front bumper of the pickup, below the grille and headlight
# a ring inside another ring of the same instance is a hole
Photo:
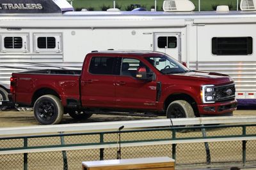
[[[209,104],[199,104],[200,115],[221,115],[236,110],[237,101],[217,102]]]

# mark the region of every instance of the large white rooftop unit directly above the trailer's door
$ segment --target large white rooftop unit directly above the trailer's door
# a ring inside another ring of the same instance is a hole
[[[195,5],[189,0],[170,0],[164,1],[163,10],[166,12],[193,11],[195,10]]]

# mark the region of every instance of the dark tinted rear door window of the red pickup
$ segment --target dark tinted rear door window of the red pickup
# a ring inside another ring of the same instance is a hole
[[[114,67],[114,57],[93,57],[89,72],[92,74],[119,74]]]

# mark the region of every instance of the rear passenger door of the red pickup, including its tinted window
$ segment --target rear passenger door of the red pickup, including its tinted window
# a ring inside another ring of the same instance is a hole
[[[115,105],[116,57],[92,57],[81,77],[83,107],[113,108]],[[119,74],[119,73],[118,73]]]

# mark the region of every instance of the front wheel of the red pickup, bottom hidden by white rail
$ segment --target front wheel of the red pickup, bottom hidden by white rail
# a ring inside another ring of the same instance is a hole
[[[167,118],[192,118],[195,117],[192,106],[183,100],[173,101],[166,110]]]

